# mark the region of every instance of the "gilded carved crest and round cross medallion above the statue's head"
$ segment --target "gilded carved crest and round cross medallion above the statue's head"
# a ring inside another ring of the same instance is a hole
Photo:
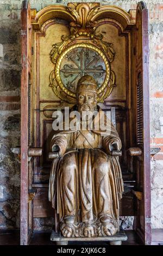
[[[99,3],[68,3],[67,10],[76,22],[70,23],[70,35],[62,35],[50,53],[54,70],[50,84],[55,95],[68,103],[76,103],[76,85],[80,77],[92,75],[98,84],[98,102],[104,102],[115,85],[115,73],[110,63],[115,51],[112,45],[96,34],[97,23],[92,21]]]

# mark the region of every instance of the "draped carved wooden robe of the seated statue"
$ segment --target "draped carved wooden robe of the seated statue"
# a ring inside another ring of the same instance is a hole
[[[98,112],[93,127],[100,119]],[[51,147],[59,146],[60,157],[52,163],[49,201],[60,220],[75,216],[76,223],[93,223],[109,216],[118,223],[123,180],[118,157],[109,154],[112,142],[121,149],[121,140],[106,116],[104,125],[92,131],[59,131],[52,138]]]

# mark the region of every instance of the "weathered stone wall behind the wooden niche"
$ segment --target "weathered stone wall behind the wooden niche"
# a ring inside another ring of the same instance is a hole
[[[0,0],[0,228],[19,228],[20,225],[20,161],[10,148],[20,145],[21,2]],[[115,4],[128,11],[135,9],[137,2],[105,0],[102,4]],[[31,0],[30,3],[32,8],[40,10],[49,4],[66,5],[67,1]],[[149,0],[146,4],[149,9],[151,146],[161,148],[151,160],[152,228],[163,228],[163,1]],[[47,229],[51,223],[51,220],[46,223],[35,220],[35,227]]]

